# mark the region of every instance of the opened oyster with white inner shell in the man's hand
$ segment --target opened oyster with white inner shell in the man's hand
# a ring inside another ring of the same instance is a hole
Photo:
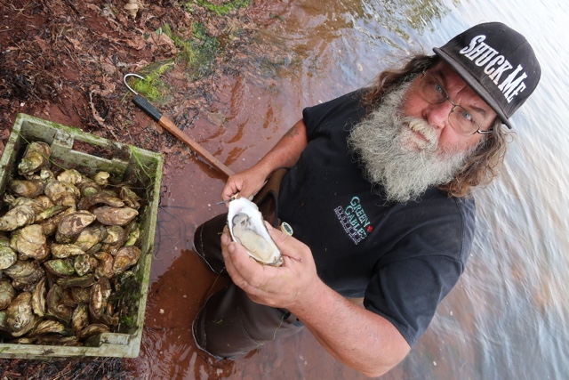
[[[259,207],[246,198],[229,202],[228,227],[231,238],[240,243],[247,253],[260,263],[279,266],[281,252],[268,235]]]

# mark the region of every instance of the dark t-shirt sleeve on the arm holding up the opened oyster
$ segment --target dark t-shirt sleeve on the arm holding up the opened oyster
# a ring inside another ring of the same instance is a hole
[[[464,271],[474,213],[459,203],[460,213],[440,213],[398,239],[365,290],[365,308],[388,319],[412,347]]]

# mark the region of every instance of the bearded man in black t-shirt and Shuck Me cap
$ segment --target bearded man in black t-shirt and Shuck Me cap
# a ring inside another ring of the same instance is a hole
[[[233,357],[304,326],[368,376],[405,358],[464,271],[470,190],[495,175],[501,125],[541,76],[525,37],[501,23],[434,51],[383,72],[372,88],[304,109],[257,165],[228,179],[224,200],[248,198],[291,167],[278,216],[294,235],[268,227],[284,256],[271,267],[227,229],[219,242],[224,215],[198,227],[196,252],[232,279],[194,322],[204,351]],[[349,301],[357,297],[364,307]]]

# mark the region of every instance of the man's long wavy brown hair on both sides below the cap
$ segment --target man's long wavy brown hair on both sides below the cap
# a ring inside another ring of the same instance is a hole
[[[371,112],[381,104],[386,93],[413,80],[424,70],[437,65],[439,61],[440,58],[436,55],[417,54],[407,61],[402,69],[383,71],[376,77],[374,84],[362,99],[366,111]],[[502,127],[499,117],[494,120],[492,131],[493,133],[484,136],[453,180],[438,186],[439,189],[445,190],[450,197],[467,197],[471,195],[473,187],[492,182],[503,164],[510,135]]]

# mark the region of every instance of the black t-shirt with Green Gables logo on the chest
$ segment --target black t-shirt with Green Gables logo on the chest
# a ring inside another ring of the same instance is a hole
[[[329,287],[364,296],[413,346],[464,270],[475,204],[436,188],[405,204],[378,195],[347,148],[365,116],[360,95],[303,110],[309,144],[284,177],[279,217],[310,247]]]

